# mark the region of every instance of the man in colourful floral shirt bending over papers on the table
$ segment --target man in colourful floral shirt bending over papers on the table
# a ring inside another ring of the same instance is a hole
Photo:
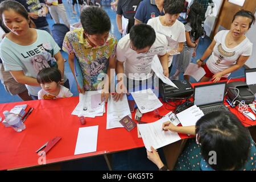
[[[109,86],[112,80],[110,69],[115,69],[115,47],[117,45],[114,36],[109,35],[111,28],[109,16],[104,10],[90,6],[82,9],[80,19],[82,28],[76,28],[65,35],[63,50],[69,54],[68,61],[74,76],[75,57],[82,70],[82,88],[77,84],[79,93],[103,89],[102,100],[105,98],[105,101],[108,101]]]

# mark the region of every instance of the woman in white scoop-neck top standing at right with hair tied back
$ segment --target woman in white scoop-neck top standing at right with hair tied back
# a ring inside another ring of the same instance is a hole
[[[233,17],[230,30],[220,31],[214,36],[204,55],[197,60],[199,67],[203,67],[206,72],[201,82],[226,79],[245,64],[253,51],[253,44],[245,33],[254,21],[255,16],[250,11],[238,11]],[[208,61],[204,63],[208,56]]]

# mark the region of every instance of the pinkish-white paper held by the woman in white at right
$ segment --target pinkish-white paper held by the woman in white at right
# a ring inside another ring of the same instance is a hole
[[[196,81],[200,81],[205,75],[204,68],[198,67],[195,63],[189,63],[184,75],[192,76]]]

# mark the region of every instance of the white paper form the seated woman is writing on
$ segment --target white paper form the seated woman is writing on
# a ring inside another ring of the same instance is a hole
[[[158,149],[181,139],[177,133],[163,131],[163,123],[167,121],[170,121],[170,118],[163,117],[156,122],[138,125],[144,146],[148,151],[151,151],[151,146]]]

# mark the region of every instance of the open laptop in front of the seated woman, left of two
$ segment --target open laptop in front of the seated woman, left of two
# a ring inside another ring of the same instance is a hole
[[[226,82],[213,84],[196,85],[194,88],[194,104],[197,105],[204,114],[217,110],[229,110],[224,105]]]

